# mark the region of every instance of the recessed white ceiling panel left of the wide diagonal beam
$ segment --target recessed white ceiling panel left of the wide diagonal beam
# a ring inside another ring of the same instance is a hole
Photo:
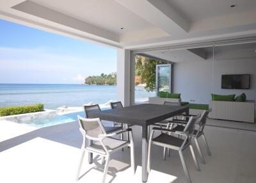
[[[122,35],[154,26],[113,0],[31,0],[75,19]],[[124,29],[120,29],[124,28]]]

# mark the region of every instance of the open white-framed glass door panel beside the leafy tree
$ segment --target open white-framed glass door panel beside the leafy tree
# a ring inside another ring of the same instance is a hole
[[[156,96],[158,92],[172,92],[172,64],[156,65]]]

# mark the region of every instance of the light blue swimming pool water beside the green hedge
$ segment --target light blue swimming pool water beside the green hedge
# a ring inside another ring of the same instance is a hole
[[[49,127],[52,125],[58,125],[62,123],[69,123],[69,122],[77,122],[77,115],[80,115],[84,117],[84,111],[76,112],[76,113],[68,113],[66,115],[58,115],[54,117],[48,117],[48,118],[40,118],[35,120],[28,120],[20,122],[22,124],[26,124],[33,127]],[[103,121],[105,126],[111,126],[113,123],[109,123],[106,121]]]

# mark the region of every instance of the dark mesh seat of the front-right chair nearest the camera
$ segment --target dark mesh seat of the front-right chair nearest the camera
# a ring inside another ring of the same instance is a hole
[[[156,138],[152,139],[152,143],[157,143],[159,145],[172,145],[173,147],[181,147],[182,143],[184,143],[184,139],[177,138],[175,136],[170,136],[168,134],[160,134]],[[187,140],[184,147],[189,143]]]

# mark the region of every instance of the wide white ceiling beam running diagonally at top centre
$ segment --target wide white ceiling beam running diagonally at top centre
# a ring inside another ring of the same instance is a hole
[[[188,22],[164,0],[115,0],[169,35],[188,33]]]

